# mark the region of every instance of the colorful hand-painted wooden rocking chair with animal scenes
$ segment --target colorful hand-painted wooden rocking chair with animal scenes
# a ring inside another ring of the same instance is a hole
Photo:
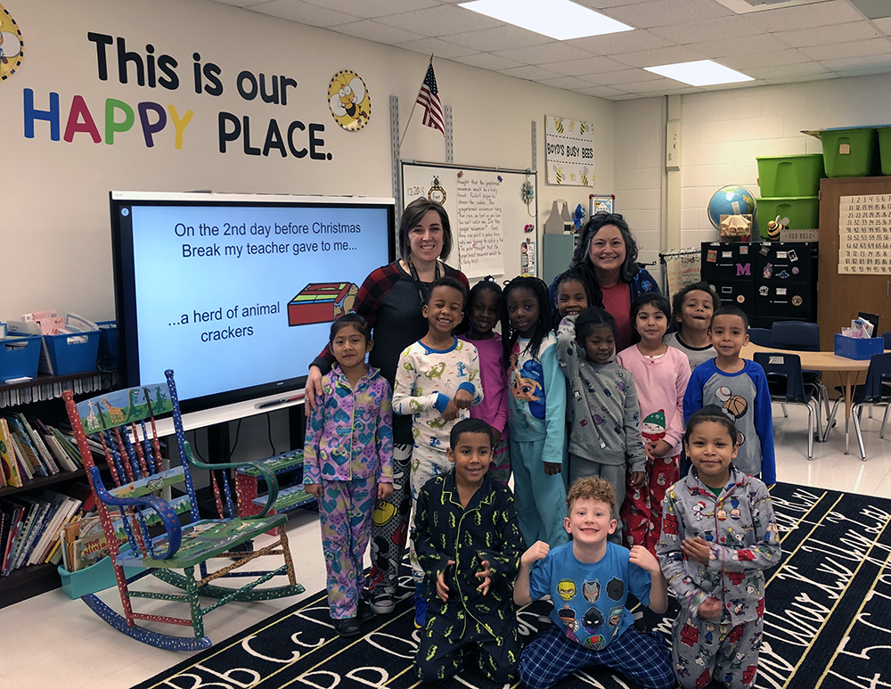
[[[207,464],[197,461],[183,434],[173,371],[168,370],[165,375],[166,384],[118,390],[79,404],[74,402],[70,391],[62,395],[110,546],[123,613],[112,610],[95,594],[84,595],[81,600],[127,636],[159,648],[193,651],[211,645],[204,633],[204,615],[209,611],[231,601],[263,601],[300,594],[304,588],[297,583],[294,574],[286,530],[276,529],[283,527],[287,516],[270,514],[278,494],[274,473],[260,463]],[[164,469],[155,418],[170,412],[182,465]],[[113,487],[106,488],[102,474],[95,466],[86,438],[92,434],[97,434],[102,443]],[[227,472],[217,470],[245,464],[255,466],[263,475],[269,495],[261,512],[240,518]],[[211,472],[210,483],[214,488],[219,519],[200,519],[192,482],[194,469]],[[184,496],[173,500],[159,496],[165,488],[179,483],[184,484]],[[184,515],[183,521],[187,521],[184,525],[180,523],[179,513]],[[273,544],[254,552],[237,551],[239,545],[270,529],[276,529],[278,534]],[[283,563],[260,571],[240,569],[266,555],[282,556]],[[226,560],[218,562],[217,569],[210,570],[208,561],[211,558]],[[176,570],[182,570],[182,573]],[[131,588],[149,575],[175,588],[170,593],[157,593],[158,585],[149,590]],[[287,577],[288,583],[260,586],[275,577]],[[225,579],[237,581],[238,578],[241,582],[247,580],[247,583],[222,585]],[[216,600],[202,608],[200,597]],[[133,609],[136,598],[187,603],[191,614],[187,618],[176,618],[136,612]],[[192,627],[194,636],[166,634],[140,626],[138,622],[143,621]]]

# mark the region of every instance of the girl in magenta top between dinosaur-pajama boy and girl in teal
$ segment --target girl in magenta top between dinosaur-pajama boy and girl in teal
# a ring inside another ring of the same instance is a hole
[[[470,418],[485,421],[495,431],[495,452],[489,465],[492,478],[507,486],[511,453],[507,437],[507,368],[501,335],[493,330],[502,319],[502,289],[491,275],[473,285],[467,297],[469,332],[459,337],[477,348],[479,377],[485,397],[470,407]]]

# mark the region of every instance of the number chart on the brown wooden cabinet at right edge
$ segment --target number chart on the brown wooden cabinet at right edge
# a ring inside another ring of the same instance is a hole
[[[891,274],[891,194],[838,201],[838,272]]]

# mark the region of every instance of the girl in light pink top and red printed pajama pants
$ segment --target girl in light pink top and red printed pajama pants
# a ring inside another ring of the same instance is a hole
[[[680,478],[683,394],[690,381],[690,362],[662,341],[671,322],[668,299],[644,292],[634,301],[631,322],[640,341],[619,352],[617,362],[631,371],[637,386],[647,465],[641,480],[628,475],[620,515],[628,547],[643,545],[655,554],[662,530],[662,498]]]

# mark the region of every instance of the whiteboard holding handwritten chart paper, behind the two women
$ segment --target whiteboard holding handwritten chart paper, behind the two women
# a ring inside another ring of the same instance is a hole
[[[402,161],[402,198],[445,206],[454,246],[449,265],[470,278],[537,274],[538,191],[535,172]],[[532,185],[526,203],[523,185]],[[531,263],[530,263],[531,261]]]

